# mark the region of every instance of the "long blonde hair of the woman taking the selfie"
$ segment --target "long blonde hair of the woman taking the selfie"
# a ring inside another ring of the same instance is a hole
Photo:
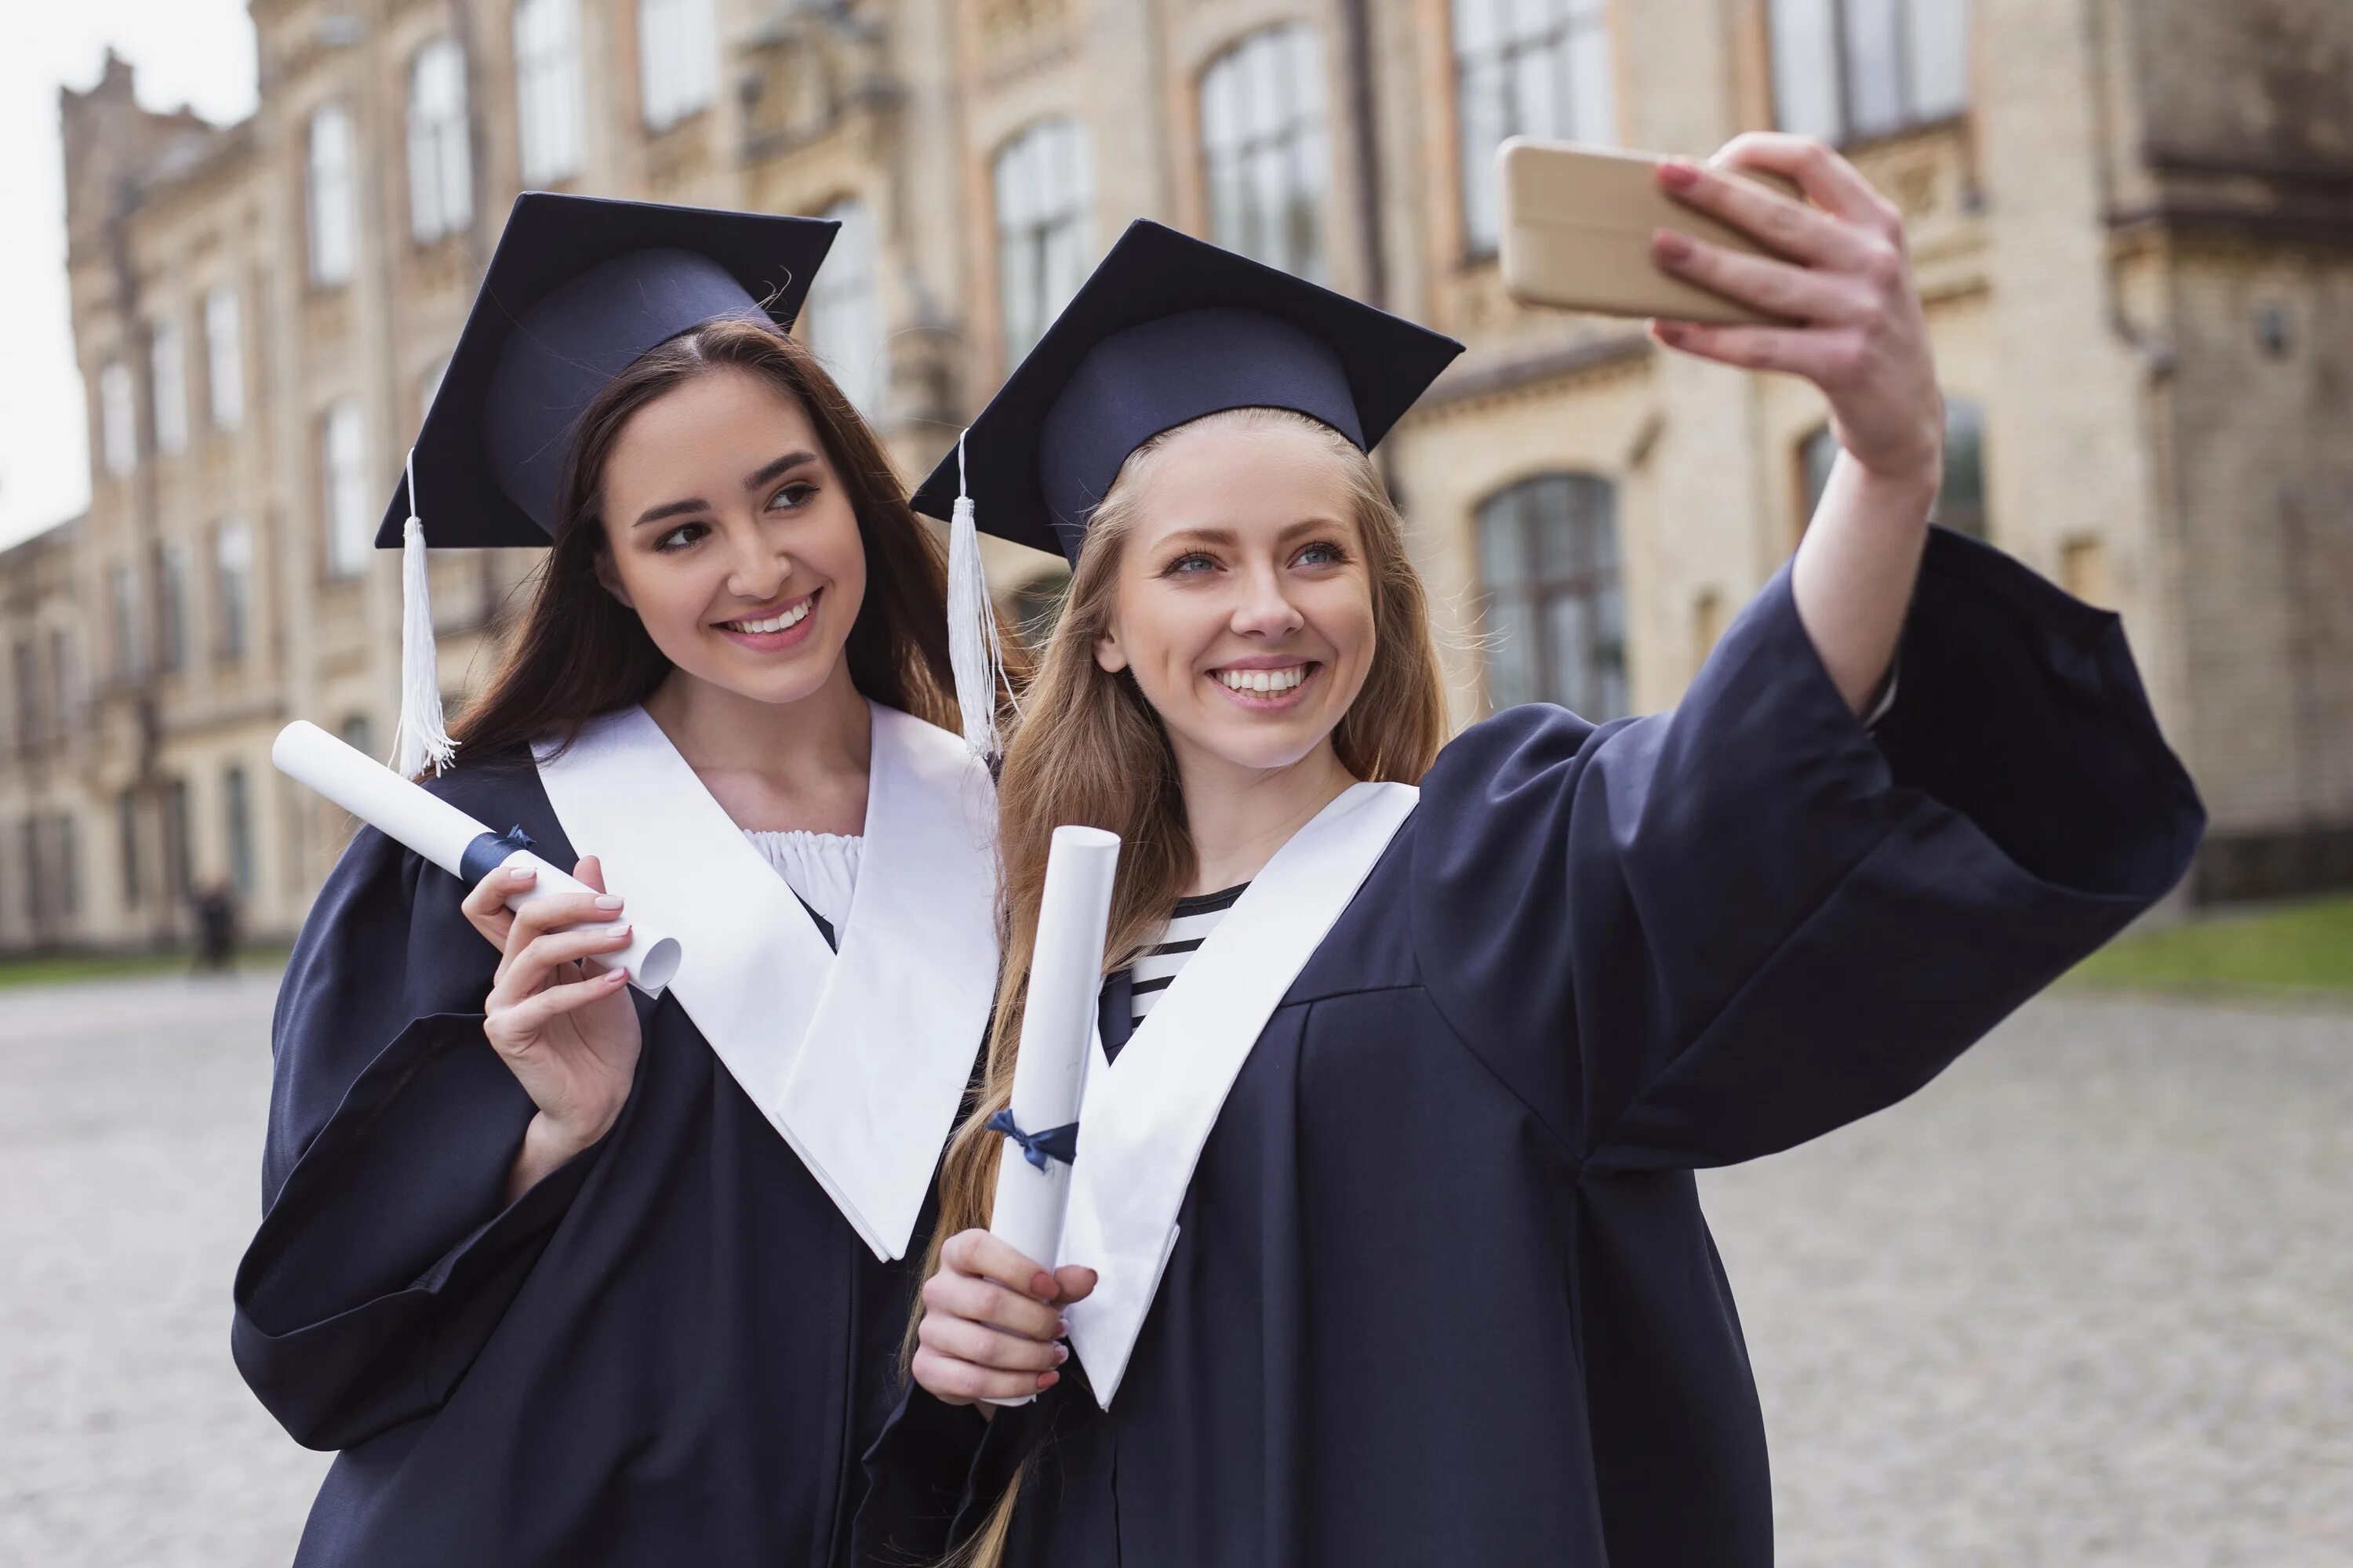
[[[1144,947],[1169,907],[1191,889],[1198,870],[1167,729],[1129,675],[1113,675],[1094,663],[1094,644],[1111,625],[1120,557],[1155,454],[1179,430],[1202,425],[1299,428],[1322,440],[1344,470],[1372,578],[1374,651],[1365,686],[1332,733],[1341,764],[1355,778],[1417,783],[1445,743],[1445,686],[1438,646],[1431,639],[1428,599],[1405,550],[1405,522],[1369,456],[1322,421],[1289,409],[1205,414],[1129,454],[1087,527],[1061,623],[1047,642],[1035,682],[1024,693],[1021,726],[1005,750],[1005,771],[998,780],[1005,973],[998,980],[998,1016],[988,1037],[979,1103],[955,1128],[941,1159],[939,1229],[925,1258],[927,1279],[939,1269],[939,1248],[948,1237],[988,1225],[998,1152],[1005,1140],[991,1133],[986,1121],[1012,1105],[1021,1009],[1038,943],[1038,900],[1045,893],[1045,860],[1054,827],[1085,823],[1120,835],[1120,875],[1111,893],[1111,931],[1104,943],[1106,973],[1125,966]],[[915,1321],[908,1324],[908,1354],[920,1321],[918,1300]],[[998,1566],[1019,1490],[1021,1476],[1014,1476],[988,1523],[951,1563]]]

